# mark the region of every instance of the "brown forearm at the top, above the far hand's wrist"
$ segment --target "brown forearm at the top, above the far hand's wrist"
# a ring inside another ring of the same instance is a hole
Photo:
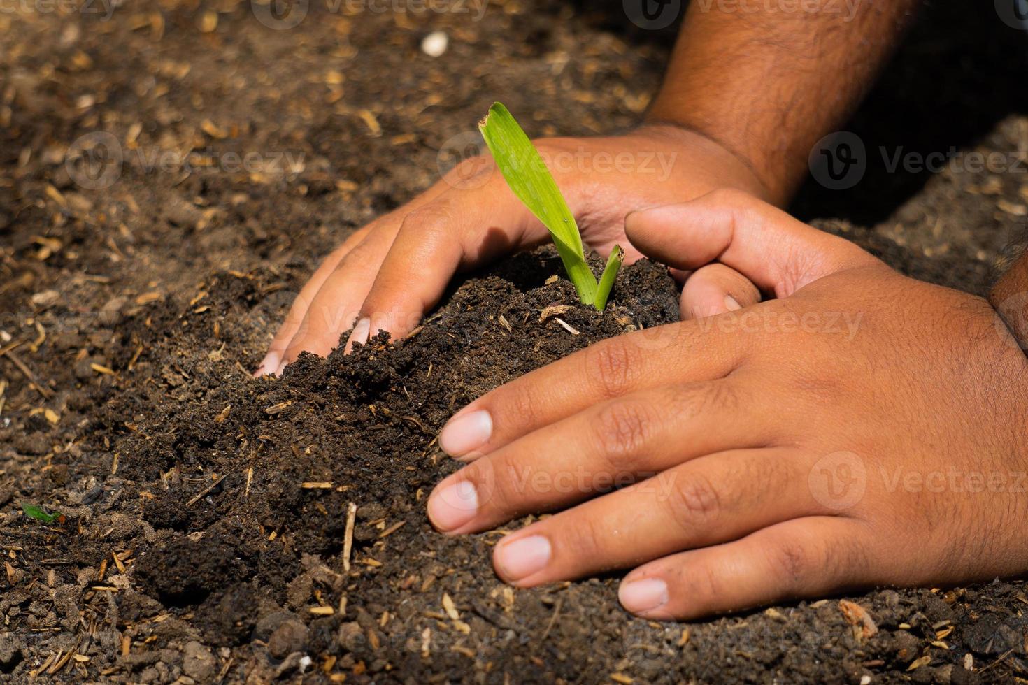
[[[811,147],[841,125],[920,0],[694,0],[650,122],[731,150],[787,201]]]

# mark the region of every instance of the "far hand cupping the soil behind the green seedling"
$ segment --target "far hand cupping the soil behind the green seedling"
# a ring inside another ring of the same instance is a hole
[[[579,218],[583,241],[603,257],[619,243],[626,261],[640,257],[624,235],[632,210],[724,187],[765,194],[739,158],[673,126],[536,145]],[[351,343],[366,342],[378,330],[406,335],[457,270],[547,239],[546,228],[510,191],[492,158],[468,159],[329,255],[300,291],[257,373],[281,372],[304,350],[327,354],[352,327]]]

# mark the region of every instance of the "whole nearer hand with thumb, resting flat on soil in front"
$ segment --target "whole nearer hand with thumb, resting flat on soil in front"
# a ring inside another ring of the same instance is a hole
[[[735,191],[627,231],[777,299],[603,341],[473,402],[440,437],[471,463],[429,499],[437,528],[566,509],[499,542],[500,576],[635,567],[621,603],[659,619],[1028,570],[1028,360],[985,301]]]

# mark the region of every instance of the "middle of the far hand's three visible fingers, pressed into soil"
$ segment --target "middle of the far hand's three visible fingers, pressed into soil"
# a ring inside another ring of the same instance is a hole
[[[278,370],[280,374],[300,352],[326,356],[339,345],[339,336],[354,326],[397,230],[399,225],[395,218],[380,224],[339,260],[311,298],[303,319],[287,344]]]

